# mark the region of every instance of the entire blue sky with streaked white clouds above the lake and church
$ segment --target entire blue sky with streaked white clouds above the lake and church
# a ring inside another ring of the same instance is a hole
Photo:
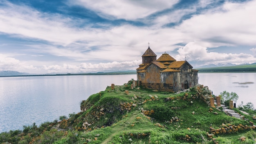
[[[256,0],[0,0],[0,71],[136,70],[148,46],[194,67],[256,62]],[[149,44],[148,44],[149,43]]]

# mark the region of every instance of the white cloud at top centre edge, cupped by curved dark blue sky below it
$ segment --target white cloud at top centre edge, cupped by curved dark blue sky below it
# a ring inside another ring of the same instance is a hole
[[[179,0],[71,0],[70,4],[83,5],[97,11],[101,17],[135,20],[157,11],[171,8]]]

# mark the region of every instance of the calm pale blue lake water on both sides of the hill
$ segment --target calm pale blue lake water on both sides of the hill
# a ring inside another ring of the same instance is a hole
[[[237,105],[252,102],[256,106],[256,73],[200,73],[199,83],[213,94],[236,92]],[[0,133],[22,130],[23,125],[53,121],[59,116],[80,111],[80,102],[114,83],[123,85],[131,75],[97,76],[25,76],[0,77]],[[239,84],[253,82],[250,84]]]

